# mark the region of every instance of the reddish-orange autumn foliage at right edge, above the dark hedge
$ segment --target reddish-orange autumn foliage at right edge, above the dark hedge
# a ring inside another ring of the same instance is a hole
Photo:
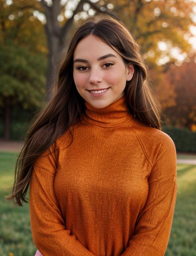
[[[181,66],[170,65],[157,87],[169,124],[195,130],[196,125],[196,56]]]

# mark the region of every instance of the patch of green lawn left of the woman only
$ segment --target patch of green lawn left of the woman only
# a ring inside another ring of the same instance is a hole
[[[4,199],[14,182],[16,157],[16,153],[0,152],[0,256],[34,256],[29,204],[13,207]]]

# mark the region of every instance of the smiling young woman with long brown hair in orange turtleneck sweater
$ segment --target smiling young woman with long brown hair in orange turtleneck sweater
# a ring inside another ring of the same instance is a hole
[[[13,194],[43,256],[163,256],[176,201],[176,148],[140,46],[108,15],[75,33],[56,91],[27,133]]]

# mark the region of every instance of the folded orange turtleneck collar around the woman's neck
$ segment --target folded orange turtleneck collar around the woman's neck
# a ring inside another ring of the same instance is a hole
[[[85,101],[84,120],[97,126],[115,127],[131,121],[134,116],[129,112],[125,95],[118,101],[108,105],[103,109],[97,109]]]

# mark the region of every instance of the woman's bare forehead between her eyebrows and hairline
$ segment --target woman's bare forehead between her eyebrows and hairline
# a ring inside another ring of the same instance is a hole
[[[100,38],[94,35],[88,35],[84,39],[78,43],[74,51],[74,59],[75,58],[98,58],[102,55],[106,55],[108,53],[112,53],[115,56],[119,57],[118,53],[112,49],[112,47],[108,46],[105,42],[103,42]]]

